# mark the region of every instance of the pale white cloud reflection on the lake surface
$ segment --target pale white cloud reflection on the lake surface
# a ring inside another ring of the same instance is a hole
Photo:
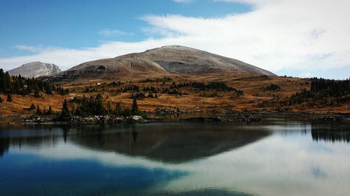
[[[69,141],[35,151],[28,146],[21,149],[11,146],[11,151],[57,161],[83,159],[109,167],[143,167],[187,174],[164,183],[162,190],[167,192],[220,187],[259,195],[346,195],[344,190],[349,187],[350,174],[346,144],[319,141],[315,148],[311,142],[311,125],[294,123],[293,126],[260,126],[259,130],[273,134],[238,149],[177,164],[96,151]],[[301,126],[304,128],[302,134]],[[325,176],[319,179],[314,168]],[[281,182],[288,182],[288,186],[276,186]]]

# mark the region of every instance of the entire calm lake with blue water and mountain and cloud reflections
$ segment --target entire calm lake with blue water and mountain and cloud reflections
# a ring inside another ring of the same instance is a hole
[[[292,119],[0,129],[0,195],[346,195],[350,126]]]

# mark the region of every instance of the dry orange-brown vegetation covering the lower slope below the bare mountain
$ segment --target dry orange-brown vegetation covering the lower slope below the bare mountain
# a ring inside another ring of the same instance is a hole
[[[116,82],[116,84],[112,84]],[[118,82],[122,82],[119,84]],[[177,90],[179,94],[165,93],[163,89],[172,89],[172,86],[186,82],[224,82],[228,86],[243,91],[239,95],[237,91],[218,91],[216,89],[200,90],[193,86],[184,86]],[[123,107],[131,107],[132,97],[137,93],[144,93],[144,98],[137,97],[140,110],[154,111],[159,109],[181,111],[295,111],[295,112],[314,112],[314,113],[350,113],[350,103],[336,104],[332,106],[315,106],[307,103],[298,103],[293,105],[285,104],[285,101],[304,89],[310,89],[310,79],[293,78],[293,77],[276,77],[264,75],[252,75],[248,73],[235,73],[223,75],[201,75],[195,77],[191,75],[173,75],[170,78],[153,77],[145,79],[116,81],[111,78],[107,80],[89,80],[88,82],[75,81],[67,83],[64,88],[69,89],[68,96],[61,96],[58,93],[46,95],[43,98],[34,98],[33,95],[18,96],[13,95],[13,101],[7,102],[6,95],[1,94],[3,103],[0,103],[1,114],[31,114],[33,111],[26,110],[31,103],[39,105],[41,109],[59,111],[62,107],[62,101],[66,98],[72,99],[74,96],[96,96],[102,94],[104,102],[111,101],[113,107],[116,103],[121,102]],[[98,83],[98,84],[97,84]],[[267,86],[276,84],[280,89],[267,90]],[[127,86],[139,86],[139,92],[134,90],[124,90]],[[157,98],[150,98],[150,93],[144,92],[143,89],[154,87],[157,93],[151,93],[152,96],[157,94]],[[89,91],[87,91],[89,89]]]

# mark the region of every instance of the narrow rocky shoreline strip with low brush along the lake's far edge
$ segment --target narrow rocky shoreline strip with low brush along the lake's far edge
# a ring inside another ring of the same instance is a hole
[[[302,118],[302,120],[318,121],[347,121],[350,122],[350,114],[314,114],[309,112],[147,112],[147,117],[134,116],[71,116],[60,118],[59,116],[36,116],[34,114],[10,114],[0,116],[0,125],[76,125],[76,124],[120,124],[120,123],[154,123],[162,121],[213,121],[213,122],[246,122],[252,123],[271,117],[283,118],[286,116]]]

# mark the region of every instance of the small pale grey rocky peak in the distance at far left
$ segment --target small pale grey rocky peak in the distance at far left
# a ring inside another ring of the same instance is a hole
[[[52,63],[31,62],[25,63],[18,68],[9,70],[10,75],[21,75],[23,77],[40,77],[44,75],[52,75],[59,73],[61,70]]]

